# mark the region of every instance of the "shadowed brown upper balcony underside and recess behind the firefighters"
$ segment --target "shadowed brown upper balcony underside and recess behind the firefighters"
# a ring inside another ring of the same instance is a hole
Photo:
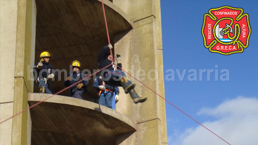
[[[98,69],[97,58],[103,46],[108,44],[101,0],[35,0],[36,50],[35,62],[43,51],[53,54],[50,63],[55,69],[66,69],[73,60],[82,63],[82,69]],[[132,22],[128,16],[112,2],[104,0],[107,25],[111,43],[117,34],[128,32]],[[60,74],[62,80],[64,74]],[[89,86],[92,86],[90,81]],[[53,81],[51,88],[57,92],[62,81]],[[88,87],[83,99],[96,96]],[[38,87],[34,86],[34,92]],[[60,95],[69,96],[69,91]]]

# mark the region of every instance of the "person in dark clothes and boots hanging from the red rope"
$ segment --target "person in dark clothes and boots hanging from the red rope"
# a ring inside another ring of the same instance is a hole
[[[103,49],[100,51],[99,57],[98,57],[98,65],[99,65],[99,69],[102,69],[108,65],[110,65],[112,63],[112,56],[110,54],[110,50],[113,48],[113,46],[111,44],[109,44],[108,46],[104,46]],[[120,64],[121,64],[121,57],[120,57]],[[118,65],[117,64],[117,65]],[[118,65],[118,66],[119,66]],[[109,72],[105,72],[104,71],[104,81],[106,84],[111,85],[111,86],[122,86],[124,89],[124,92],[127,94],[129,93],[131,98],[133,99],[134,103],[142,103],[144,101],[146,101],[146,97],[140,97],[138,96],[138,94],[135,92],[134,87],[135,84],[132,83],[130,80],[128,80],[126,78],[125,73],[117,68],[117,70],[114,70],[114,66],[109,66],[106,69],[108,69]],[[108,76],[111,75],[111,78],[108,79]],[[106,80],[108,79],[108,80]]]

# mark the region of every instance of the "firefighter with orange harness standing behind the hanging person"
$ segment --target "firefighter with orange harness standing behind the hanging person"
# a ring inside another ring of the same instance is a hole
[[[110,86],[106,84],[100,75],[97,75],[93,82],[93,88],[98,91],[100,105],[112,108],[112,100],[115,95],[116,103],[118,101],[119,89],[117,86]]]

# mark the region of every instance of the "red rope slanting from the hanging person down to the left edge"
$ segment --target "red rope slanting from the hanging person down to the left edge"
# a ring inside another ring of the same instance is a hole
[[[66,89],[69,89],[69,88],[71,88],[72,86],[75,86],[76,84],[82,82],[82,81],[85,80],[85,79],[88,79],[89,77],[91,77],[91,76],[93,76],[94,74],[96,74],[96,73],[102,71],[103,69],[106,69],[107,67],[109,67],[109,66],[111,66],[111,65],[112,65],[112,64],[110,64],[110,65],[108,65],[108,66],[106,66],[106,67],[104,67],[104,68],[102,68],[102,69],[100,69],[100,70],[94,72],[94,73],[91,74],[90,76],[87,76],[86,78],[83,78],[82,80],[80,80],[80,81],[74,83],[73,85],[68,86],[68,87],[66,87],[66,88],[64,88],[64,89],[62,89],[62,90],[60,90],[59,92],[57,92],[57,93],[55,93],[55,94],[53,94],[53,95],[51,95],[51,96],[49,96],[49,97],[47,97],[47,98],[45,98],[45,99],[39,101],[39,102],[37,102],[36,104],[33,104],[33,105],[30,106],[29,108],[26,108],[26,109],[22,110],[21,112],[19,112],[19,113],[15,114],[15,115],[9,117],[8,119],[6,119],[6,120],[0,122],[0,124],[1,124],[1,123],[4,123],[5,121],[7,121],[7,120],[9,120],[9,119],[11,119],[11,118],[13,118],[13,117],[15,117],[15,116],[17,116],[17,115],[23,113],[23,112],[25,112],[25,111],[27,111],[27,110],[29,110],[29,109],[31,109],[32,107],[35,107],[35,106],[39,105],[40,103],[42,103],[42,102],[46,101],[47,99],[49,99],[49,98],[51,98],[51,97],[53,97],[53,96],[55,96],[55,95],[57,95],[57,94],[59,94],[59,93],[65,91]]]

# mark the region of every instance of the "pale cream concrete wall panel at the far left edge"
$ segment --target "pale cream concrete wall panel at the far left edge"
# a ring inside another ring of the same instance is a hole
[[[17,0],[0,1],[0,122],[13,115]],[[0,125],[0,144],[12,141],[12,119]]]

